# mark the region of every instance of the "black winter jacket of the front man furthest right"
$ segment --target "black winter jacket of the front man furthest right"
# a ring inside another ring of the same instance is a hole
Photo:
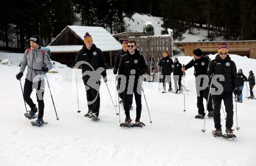
[[[218,81],[223,86],[223,92],[232,92],[237,87],[236,64],[228,54],[224,60],[218,54],[215,60],[209,63],[207,75],[211,76],[212,74],[224,76],[225,80],[223,82]],[[215,87],[214,84],[212,84],[212,87]]]

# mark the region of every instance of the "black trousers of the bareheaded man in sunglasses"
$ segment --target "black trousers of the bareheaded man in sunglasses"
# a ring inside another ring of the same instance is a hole
[[[140,120],[141,116],[141,94],[137,92],[137,82],[134,83],[133,86],[133,94],[136,101],[136,119]],[[123,106],[125,108],[125,115],[126,117],[130,117],[130,105],[132,104],[131,101],[133,99],[133,94],[127,94],[127,84],[125,91],[123,92]]]

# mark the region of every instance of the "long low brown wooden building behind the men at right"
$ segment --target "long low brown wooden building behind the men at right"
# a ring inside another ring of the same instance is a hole
[[[212,42],[174,42],[179,49],[184,51],[185,56],[193,56],[194,49],[201,49],[204,54],[215,54],[221,42],[226,42],[230,54],[256,58],[256,40],[240,41],[212,41]]]

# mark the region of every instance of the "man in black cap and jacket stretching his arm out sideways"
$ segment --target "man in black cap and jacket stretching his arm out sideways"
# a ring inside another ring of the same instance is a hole
[[[185,70],[194,67],[194,76],[195,78],[199,75],[207,75],[207,68],[208,64],[210,62],[208,57],[202,56],[202,51],[200,49],[195,49],[193,51],[193,60],[191,60],[187,65],[185,65],[184,68],[182,68],[182,71],[184,72]],[[196,84],[195,87],[198,88],[199,86],[202,87],[204,78],[201,78],[200,80],[200,85]],[[209,86],[208,86],[209,87]],[[195,116],[197,119],[204,119],[205,112],[204,112],[204,102],[203,99],[205,98],[206,100],[208,99],[209,95],[209,88],[205,88],[204,90],[198,90],[199,95],[197,96],[197,108],[198,108],[198,115]],[[214,109],[212,108],[212,96],[209,95],[209,101],[207,105],[207,110],[208,110],[208,117],[213,117],[214,116]]]

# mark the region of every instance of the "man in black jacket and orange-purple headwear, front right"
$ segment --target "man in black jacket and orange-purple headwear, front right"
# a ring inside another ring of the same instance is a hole
[[[212,60],[208,67],[207,75],[222,75],[225,80],[218,83],[222,85],[223,91],[221,94],[212,94],[214,101],[214,124],[215,124],[215,135],[222,134],[221,130],[221,101],[223,99],[226,109],[226,132],[232,134],[233,126],[233,94],[237,94],[237,73],[236,64],[230,59],[226,43],[219,45],[219,54],[216,55],[215,60]],[[212,87],[216,89],[214,84]]]

